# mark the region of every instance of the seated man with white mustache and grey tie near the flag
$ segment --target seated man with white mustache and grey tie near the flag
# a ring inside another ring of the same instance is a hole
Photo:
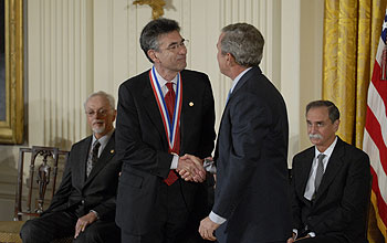
[[[339,112],[332,102],[310,103],[306,124],[314,146],[293,158],[294,233],[287,242],[368,242],[368,156],[336,136]]]

